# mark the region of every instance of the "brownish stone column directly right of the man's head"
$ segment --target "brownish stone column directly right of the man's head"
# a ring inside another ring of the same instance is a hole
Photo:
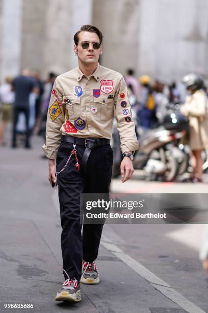
[[[138,70],[140,0],[95,0],[93,24],[103,33],[100,63],[126,73]]]

